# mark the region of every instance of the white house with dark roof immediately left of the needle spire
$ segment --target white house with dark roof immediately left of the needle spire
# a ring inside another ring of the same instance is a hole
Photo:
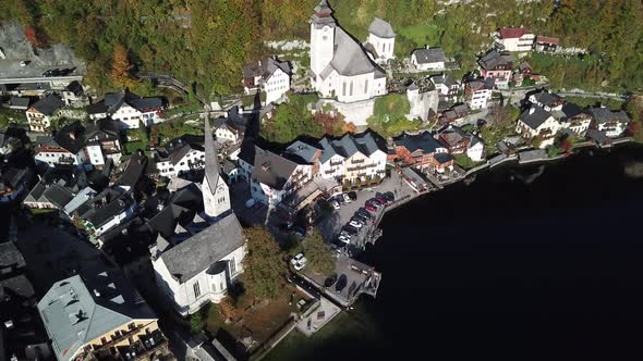
[[[155,152],[156,169],[161,176],[178,176],[205,166],[205,151],[199,137],[183,136]]]

